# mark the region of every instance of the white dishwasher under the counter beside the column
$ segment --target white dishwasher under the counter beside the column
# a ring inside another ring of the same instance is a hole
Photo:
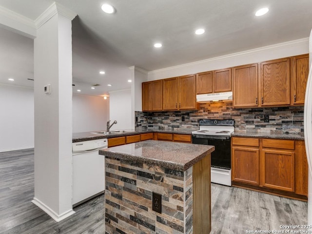
[[[105,156],[107,139],[73,143],[73,207],[105,191]]]

